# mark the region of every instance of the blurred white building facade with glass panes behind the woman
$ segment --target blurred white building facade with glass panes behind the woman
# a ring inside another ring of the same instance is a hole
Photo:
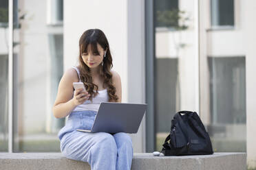
[[[149,105],[138,134],[131,134],[134,151],[160,150],[173,114],[194,110],[215,151],[246,151],[256,167],[256,1],[14,0],[13,48],[8,8],[1,1],[0,151],[8,151],[8,136],[14,152],[59,151],[56,133],[65,119],[51,112],[58,82],[78,64],[81,34],[99,28],[122,78],[122,102]]]

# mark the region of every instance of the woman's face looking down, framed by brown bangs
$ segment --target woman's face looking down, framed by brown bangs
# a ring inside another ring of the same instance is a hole
[[[103,61],[104,49],[97,43],[97,49],[99,53],[92,51],[92,46],[88,45],[87,53],[82,53],[83,62],[90,68],[96,68]]]

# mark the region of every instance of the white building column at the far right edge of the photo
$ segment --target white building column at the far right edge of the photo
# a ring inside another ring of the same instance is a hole
[[[247,164],[249,168],[256,167],[256,3],[255,0],[246,0],[246,127],[247,127]]]

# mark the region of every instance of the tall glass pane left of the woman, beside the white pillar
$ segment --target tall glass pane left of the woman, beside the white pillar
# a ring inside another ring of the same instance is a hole
[[[63,1],[14,1],[14,152],[59,151],[52,106],[63,74]]]

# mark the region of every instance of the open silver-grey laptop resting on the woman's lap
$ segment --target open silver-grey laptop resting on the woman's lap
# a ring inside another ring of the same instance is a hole
[[[110,134],[125,132],[134,134],[138,132],[140,122],[147,109],[147,104],[123,104],[115,102],[102,102],[96,114],[91,130],[81,132],[107,132]]]

